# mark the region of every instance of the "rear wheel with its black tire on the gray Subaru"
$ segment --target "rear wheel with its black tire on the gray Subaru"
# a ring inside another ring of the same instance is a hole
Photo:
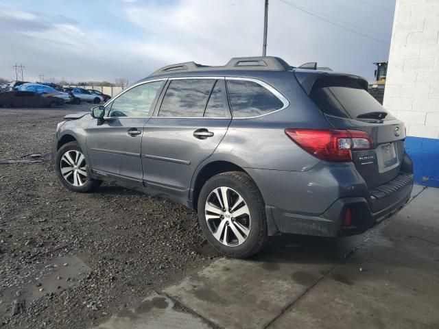
[[[226,256],[248,258],[268,241],[265,204],[247,173],[209,179],[198,198],[198,220],[207,241]]]

